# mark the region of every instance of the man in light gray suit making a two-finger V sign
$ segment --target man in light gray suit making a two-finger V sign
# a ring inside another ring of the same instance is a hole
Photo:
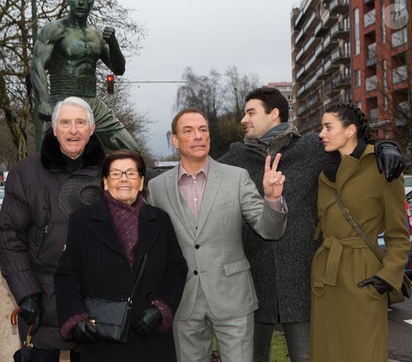
[[[205,114],[180,111],[172,133],[180,164],[148,183],[147,202],[170,215],[189,268],[173,322],[178,361],[210,361],[214,333],[222,361],[251,362],[258,304],[242,228],[246,221],[263,238],[283,236],[285,177],[276,170],[281,156],[272,167],[266,159],[263,199],[246,170],[208,156]]]

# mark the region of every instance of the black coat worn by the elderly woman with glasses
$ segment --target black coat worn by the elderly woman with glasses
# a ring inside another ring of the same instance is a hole
[[[133,274],[104,198],[72,214],[66,249],[55,273],[59,325],[85,312],[85,297],[129,297],[146,253],[146,267],[134,295],[131,326],[151,300],[161,300],[174,313],[183,293],[188,267],[168,214],[146,204],[141,209]],[[175,358],[171,329],[156,331],[148,339],[129,334],[126,345],[82,344],[82,360],[87,362],[166,362]]]

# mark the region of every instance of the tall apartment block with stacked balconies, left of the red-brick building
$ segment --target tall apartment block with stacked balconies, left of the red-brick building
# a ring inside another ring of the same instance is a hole
[[[351,102],[349,0],[304,0],[291,15],[296,126],[319,131],[325,108]]]

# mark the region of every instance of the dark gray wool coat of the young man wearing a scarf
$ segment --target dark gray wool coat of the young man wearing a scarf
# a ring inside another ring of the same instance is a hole
[[[310,265],[320,245],[313,241],[317,224],[318,175],[325,152],[318,134],[293,136],[281,150],[279,170],[286,175],[283,197],[288,224],[283,237],[268,243],[249,225],[244,226],[244,250],[251,265],[261,323],[308,322],[310,319]],[[219,162],[245,168],[263,195],[266,151],[233,143]]]

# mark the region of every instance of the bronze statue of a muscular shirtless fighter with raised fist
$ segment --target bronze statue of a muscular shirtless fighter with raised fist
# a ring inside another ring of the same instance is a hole
[[[87,25],[93,0],[69,0],[64,18],[41,28],[34,46],[31,79],[39,102],[39,116],[50,127],[55,104],[66,97],[85,99],[94,113],[95,132],[109,150],[137,149],[136,141],[112,109],[96,97],[96,65],[101,59],[115,75],[123,75],[124,60],[114,28],[103,33]],[[50,76],[50,93],[46,71]]]

